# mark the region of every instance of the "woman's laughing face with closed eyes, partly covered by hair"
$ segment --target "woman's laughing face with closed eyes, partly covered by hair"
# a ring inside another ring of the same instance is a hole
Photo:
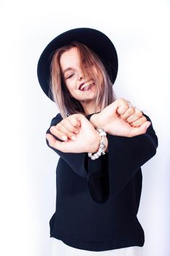
[[[61,71],[66,83],[66,87],[69,89],[70,94],[74,99],[77,99],[84,107],[92,106],[96,102],[96,84],[93,83],[93,79],[89,78],[85,80],[82,70],[80,68],[79,55],[76,47],[66,50],[61,55],[60,59]],[[98,75],[96,68],[92,65],[93,72]]]

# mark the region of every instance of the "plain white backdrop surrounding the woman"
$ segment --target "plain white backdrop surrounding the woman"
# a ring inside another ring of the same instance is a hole
[[[170,255],[169,7],[168,0],[0,2],[1,255],[50,255],[58,155],[45,132],[58,109],[40,88],[36,65],[47,43],[77,27],[112,39],[119,59],[115,93],[152,120],[159,146],[142,167],[138,217],[144,256]]]

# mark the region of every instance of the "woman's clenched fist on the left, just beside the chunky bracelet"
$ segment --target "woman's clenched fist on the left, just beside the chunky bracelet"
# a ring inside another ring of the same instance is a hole
[[[77,127],[79,127],[79,123],[80,129],[77,135],[75,135],[74,132],[77,130]],[[101,140],[101,137],[93,127],[93,124],[91,124],[82,114],[74,114],[68,118],[64,118],[63,121],[56,124],[56,126],[50,127],[50,132],[52,135],[49,133],[46,135],[50,146],[62,152],[94,153],[98,150],[99,142]],[[59,141],[56,140],[53,135],[61,140],[63,135],[67,135],[68,139]],[[69,137],[72,138],[72,135],[76,136],[75,140],[69,139]]]

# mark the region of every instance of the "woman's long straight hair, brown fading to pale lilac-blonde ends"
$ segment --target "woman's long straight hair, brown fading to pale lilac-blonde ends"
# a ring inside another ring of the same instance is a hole
[[[66,52],[66,50],[73,47],[76,47],[78,50],[80,68],[82,69],[84,78],[93,78],[97,84],[96,108],[99,107],[101,111],[116,99],[109,75],[96,53],[80,42],[72,42],[70,45],[55,50],[50,64],[49,93],[52,95],[53,101],[58,106],[63,118],[75,113],[82,113],[85,115],[85,110],[82,108],[81,103],[77,99],[74,99],[70,94],[69,89],[67,89],[61,71],[61,55]],[[93,69],[91,69],[92,64],[98,70],[99,75],[97,78]]]

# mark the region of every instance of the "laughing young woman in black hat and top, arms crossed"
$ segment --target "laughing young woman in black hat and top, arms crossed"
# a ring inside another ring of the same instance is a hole
[[[96,29],[60,34],[39,58],[40,86],[60,110],[46,132],[60,156],[53,256],[142,255],[141,167],[158,138],[146,114],[116,99],[117,67],[114,45]]]

